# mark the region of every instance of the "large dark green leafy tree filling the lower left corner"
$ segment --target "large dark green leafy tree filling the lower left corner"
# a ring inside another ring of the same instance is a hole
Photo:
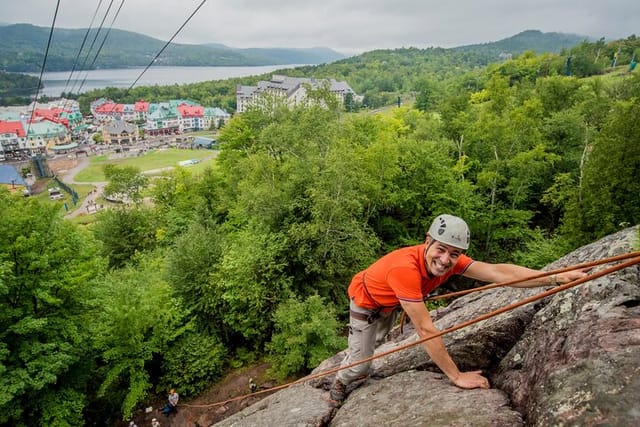
[[[4,189],[0,222],[0,424],[83,425],[98,247],[57,208]]]

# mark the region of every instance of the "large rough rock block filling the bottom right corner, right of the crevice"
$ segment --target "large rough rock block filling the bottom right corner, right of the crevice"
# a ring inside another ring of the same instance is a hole
[[[628,252],[635,235],[608,236],[560,262]],[[640,425],[638,266],[554,296],[503,359],[495,383],[530,425]]]

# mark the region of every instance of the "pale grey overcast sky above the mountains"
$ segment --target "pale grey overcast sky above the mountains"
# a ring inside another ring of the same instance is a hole
[[[123,0],[60,0],[59,28],[109,27]],[[202,0],[125,0],[114,28],[167,41]],[[0,0],[3,23],[50,27],[57,1]],[[329,47],[345,54],[486,43],[524,30],[607,40],[640,35],[640,0],[207,0],[174,40]]]

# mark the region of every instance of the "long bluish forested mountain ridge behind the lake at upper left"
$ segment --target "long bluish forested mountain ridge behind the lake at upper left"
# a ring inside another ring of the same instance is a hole
[[[0,70],[38,72],[42,67],[49,28],[30,24],[0,26]],[[56,28],[45,71],[69,71],[74,66],[86,29]],[[146,67],[166,42],[131,31],[92,29],[76,69]],[[95,42],[93,42],[95,40]],[[100,49],[98,48],[104,45]],[[94,47],[89,51],[93,43]],[[156,60],[164,66],[256,66],[321,64],[344,58],[327,48],[234,49],[222,44],[171,44]]]

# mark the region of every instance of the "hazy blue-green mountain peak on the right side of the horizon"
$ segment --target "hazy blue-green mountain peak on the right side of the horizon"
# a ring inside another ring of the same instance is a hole
[[[550,52],[560,53],[562,49],[569,49],[589,37],[577,34],[543,33],[538,30],[527,30],[496,42],[472,44],[452,48],[452,51],[476,52],[496,58],[501,54],[519,55],[531,50],[537,54]]]

